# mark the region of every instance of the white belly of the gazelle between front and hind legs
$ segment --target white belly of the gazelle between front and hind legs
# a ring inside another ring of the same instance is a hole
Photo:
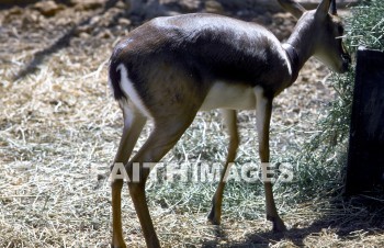
[[[253,88],[240,83],[217,81],[211,88],[200,110],[252,110],[255,108],[256,97]]]

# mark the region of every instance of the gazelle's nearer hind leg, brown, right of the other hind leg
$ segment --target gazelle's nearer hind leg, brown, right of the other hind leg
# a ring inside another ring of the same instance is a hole
[[[149,138],[126,167],[128,176],[132,174],[133,162],[138,162],[140,167],[140,181],[129,182],[128,187],[147,247],[160,247],[160,243],[145,196],[145,182],[149,174],[149,168],[145,168],[145,162],[158,162],[179,140],[192,123],[194,115],[195,113],[182,113],[178,116],[173,115],[172,119],[167,116],[166,120],[157,120]],[[129,178],[132,177],[129,176]]]

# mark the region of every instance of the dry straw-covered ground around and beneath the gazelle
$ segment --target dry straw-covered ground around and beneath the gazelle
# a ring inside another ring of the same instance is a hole
[[[108,174],[122,116],[106,84],[106,61],[126,32],[123,10],[68,9],[55,19],[37,20],[29,20],[34,10],[26,11],[0,11],[0,247],[108,247]],[[310,60],[298,82],[276,99],[271,140],[275,160],[300,151],[317,132],[314,123],[335,98],[327,76],[324,66]],[[239,121],[238,159],[255,161],[253,113],[241,112]],[[226,144],[217,112],[202,113],[163,160],[223,161]],[[278,205],[291,228],[279,236],[264,221],[260,183],[228,184],[219,227],[205,218],[214,184],[149,184],[148,202],[165,247],[384,245],[381,207],[372,213],[353,199],[319,194],[301,201],[286,188],[278,189]],[[123,199],[126,241],[144,247],[126,191]]]

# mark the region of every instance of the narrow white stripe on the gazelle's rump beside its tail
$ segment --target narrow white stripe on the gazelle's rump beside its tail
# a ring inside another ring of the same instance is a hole
[[[122,88],[125,97],[128,98],[128,101],[131,101],[143,115],[151,119],[149,111],[143,103],[143,99],[138,95],[133,82],[129,80],[128,71],[125,68],[125,66],[123,64],[120,64],[116,67],[116,70],[120,70],[120,75],[121,75],[120,87]],[[123,106],[123,108],[125,109],[126,106]]]

